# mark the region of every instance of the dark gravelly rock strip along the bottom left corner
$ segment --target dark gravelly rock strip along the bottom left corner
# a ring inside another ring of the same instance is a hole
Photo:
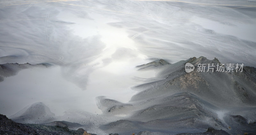
[[[68,127],[47,126],[39,124],[22,124],[8,119],[0,114],[0,134],[1,135],[95,135],[83,129],[70,130]]]

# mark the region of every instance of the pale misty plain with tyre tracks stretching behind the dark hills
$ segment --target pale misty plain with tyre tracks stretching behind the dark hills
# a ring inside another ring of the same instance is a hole
[[[0,1],[0,64],[50,63],[0,82],[0,113],[34,102],[56,115],[100,113],[95,97],[128,102],[135,66],[165,59],[218,58],[256,65],[255,1],[9,0]],[[9,56],[9,57],[6,57]],[[137,76],[137,77],[135,77]]]

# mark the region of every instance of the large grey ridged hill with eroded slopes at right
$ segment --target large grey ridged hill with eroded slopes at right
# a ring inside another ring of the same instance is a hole
[[[195,66],[194,71],[185,72],[187,62]],[[216,58],[194,57],[159,68],[156,77],[164,79],[134,87],[139,92],[130,100],[130,106],[123,103],[118,104],[122,108],[115,109],[115,114],[125,115],[123,120],[103,125],[102,129],[123,134],[144,130],[198,133],[209,127],[229,134],[255,132],[252,130],[256,121],[255,68],[243,67],[243,72],[225,72],[225,68],[224,72],[218,72],[214,67],[214,72],[206,72],[206,66],[205,72],[197,72],[198,64],[220,62]],[[112,108],[105,107],[105,110]],[[244,125],[235,122],[236,115],[241,115]]]

